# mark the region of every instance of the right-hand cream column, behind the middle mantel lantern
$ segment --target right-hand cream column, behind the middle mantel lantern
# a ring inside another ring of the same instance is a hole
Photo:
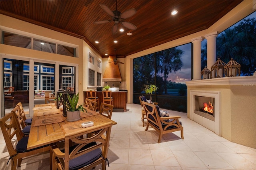
[[[212,65],[216,62],[216,37],[217,32],[206,34],[204,37],[207,40],[207,68],[211,70]]]

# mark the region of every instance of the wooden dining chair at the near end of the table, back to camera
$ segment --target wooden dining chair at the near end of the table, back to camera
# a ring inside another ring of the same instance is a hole
[[[112,122],[102,123],[86,128],[76,128],[76,130],[65,131],[64,150],[58,148],[56,144],[50,145],[52,169],[91,170],[98,164],[102,164],[102,170],[106,170],[108,146],[110,140]],[[97,131],[88,138],[81,138],[83,134]],[[104,133],[106,132],[106,136]],[[73,145],[71,146],[70,143]]]

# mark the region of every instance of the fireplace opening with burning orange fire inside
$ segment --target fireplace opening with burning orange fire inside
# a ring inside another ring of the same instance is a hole
[[[205,117],[206,119],[214,120],[214,98],[205,96],[195,96],[194,113]]]

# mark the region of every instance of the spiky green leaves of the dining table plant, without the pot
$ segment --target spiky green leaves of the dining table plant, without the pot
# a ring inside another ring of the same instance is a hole
[[[87,110],[83,107],[83,105],[78,105],[78,99],[79,99],[79,93],[74,95],[73,97],[70,97],[70,95],[67,95],[67,101],[63,101],[64,105],[66,105],[67,111],[86,111]]]

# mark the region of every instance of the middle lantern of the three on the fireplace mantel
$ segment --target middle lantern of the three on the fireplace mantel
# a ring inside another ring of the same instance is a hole
[[[212,65],[211,67],[211,78],[220,78],[224,77],[224,67],[226,66],[226,63],[224,63],[220,56],[218,56],[218,60]]]

